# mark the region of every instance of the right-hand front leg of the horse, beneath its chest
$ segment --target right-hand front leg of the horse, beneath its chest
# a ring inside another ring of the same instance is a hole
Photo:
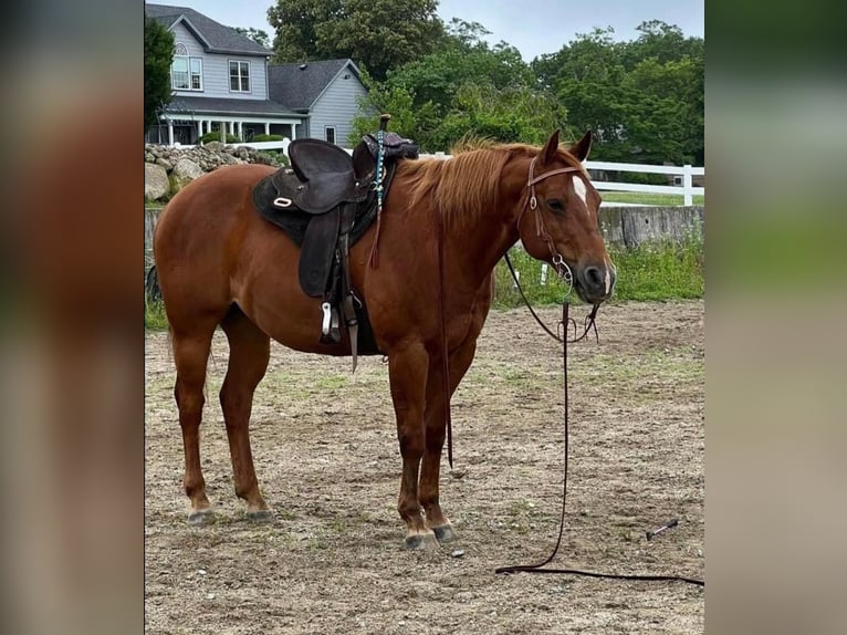
[[[473,361],[477,351],[475,337],[463,343],[450,355],[450,395],[456,392],[459,382]],[[426,452],[423,469],[420,475],[418,499],[427,514],[427,527],[436,534],[439,542],[456,540],[456,530],[441,510],[439,501],[439,480],[441,472],[441,451],[445,446],[445,382],[441,360],[435,360],[427,378],[426,409]]]

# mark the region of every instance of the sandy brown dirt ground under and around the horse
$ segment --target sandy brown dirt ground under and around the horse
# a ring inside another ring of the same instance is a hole
[[[703,311],[702,301],[604,306],[600,343],[569,347],[567,516],[551,566],[703,577]],[[561,311],[541,314],[555,323]],[[218,333],[201,441],[217,514],[192,527],[167,334],[148,334],[146,347],[147,633],[703,632],[698,586],[494,574],[544,560],[558,531],[561,346],[526,310],[491,313],[453,399],[454,467],[464,473],[449,473],[445,456],[441,502],[459,539],[428,552],[402,546],[400,457],[379,357],[352,375],[349,360],[273,345],[251,429],[275,516],[254,524],[232,489]],[[671,518],[677,528],[646,540]]]

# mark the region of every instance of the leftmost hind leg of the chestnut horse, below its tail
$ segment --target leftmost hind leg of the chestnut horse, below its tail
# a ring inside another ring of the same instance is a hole
[[[200,468],[200,421],[203,409],[203,384],[206,364],[209,361],[211,339],[217,321],[190,331],[171,329],[174,362],[177,382],[174,397],[179,408],[179,426],[182,428],[182,447],[186,466],[182,485],[191,499],[188,522],[202,523],[211,518],[209,499],[206,497],[206,481]]]

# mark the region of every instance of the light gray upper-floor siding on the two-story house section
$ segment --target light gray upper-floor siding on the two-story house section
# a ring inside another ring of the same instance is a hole
[[[202,91],[175,91],[176,95],[191,96],[202,95],[206,97],[226,97],[230,100],[266,100],[268,60],[252,55],[224,55],[220,53],[207,53],[202,44],[195,38],[191,31],[184,24],[174,27],[175,43],[182,43],[192,58],[202,59]],[[234,93],[229,90],[229,63],[250,62],[250,92]]]

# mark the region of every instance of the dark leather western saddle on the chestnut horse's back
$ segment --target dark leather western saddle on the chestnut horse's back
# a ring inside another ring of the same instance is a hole
[[[276,170],[253,189],[260,216],[285,230],[301,248],[300,285],[306,295],[323,299],[322,344],[341,342],[344,319],[354,371],[358,354],[381,351],[367,309],[351,282],[349,248],[375,219],[378,235],[383,201],[397,159],[418,157],[415,143],[386,132],[389,118],[380,117],[379,131],[365,135],[353,156],[321,139],[291,142],[291,168]]]

